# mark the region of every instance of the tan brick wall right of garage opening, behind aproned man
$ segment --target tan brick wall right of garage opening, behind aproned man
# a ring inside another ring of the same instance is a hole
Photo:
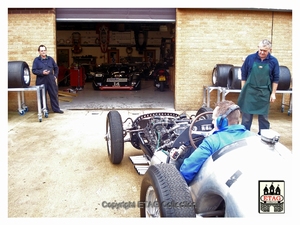
[[[203,104],[203,85],[212,85],[216,64],[242,65],[262,39],[272,40],[273,55],[292,74],[292,13],[219,9],[176,11],[176,110],[197,110]],[[211,93],[211,106],[217,101]],[[281,94],[271,109],[281,107]],[[226,99],[237,101],[238,94]],[[285,97],[288,102],[289,96]]]

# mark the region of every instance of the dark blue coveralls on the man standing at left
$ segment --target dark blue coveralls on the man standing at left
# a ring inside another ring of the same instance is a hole
[[[48,75],[44,75],[44,70],[50,70]],[[51,56],[47,56],[43,59],[41,56],[38,56],[34,59],[32,64],[32,73],[36,75],[36,85],[45,85],[46,93],[46,104],[47,104],[47,93],[50,97],[51,108],[54,112],[59,112],[59,101],[58,101],[58,87],[56,84],[56,79],[58,76],[58,66],[55,63],[54,59]],[[41,95],[42,96],[42,95]],[[42,99],[41,99],[42,100]],[[43,101],[41,101],[42,107]],[[46,105],[48,110],[48,106]]]

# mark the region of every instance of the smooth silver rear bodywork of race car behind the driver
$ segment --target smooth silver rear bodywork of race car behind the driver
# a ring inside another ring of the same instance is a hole
[[[284,180],[291,187],[291,173],[291,151],[279,142],[253,136],[229,145],[208,158],[190,184],[196,214],[224,201],[225,217],[258,216],[258,182]]]

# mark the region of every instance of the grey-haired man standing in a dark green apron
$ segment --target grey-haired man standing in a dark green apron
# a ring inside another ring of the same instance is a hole
[[[258,51],[248,55],[241,68],[242,90],[238,105],[242,112],[242,125],[250,130],[253,115],[258,115],[258,134],[261,129],[270,128],[268,120],[270,102],[275,102],[279,81],[279,63],[271,55],[271,50],[271,42],[262,40],[258,45]]]

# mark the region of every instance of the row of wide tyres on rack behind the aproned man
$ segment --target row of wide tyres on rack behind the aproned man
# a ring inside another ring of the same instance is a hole
[[[279,66],[279,82],[277,90],[289,90],[291,73],[288,67]],[[216,64],[212,71],[212,83],[216,87],[241,89],[241,67],[231,64]]]

